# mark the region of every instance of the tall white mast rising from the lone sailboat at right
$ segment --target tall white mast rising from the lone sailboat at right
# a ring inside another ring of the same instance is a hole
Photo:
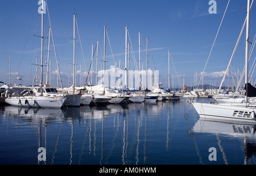
[[[245,85],[246,87],[248,83],[249,22],[250,22],[250,0],[247,1],[247,21],[246,21],[246,46],[245,46]],[[245,102],[247,103],[247,96],[245,96]]]

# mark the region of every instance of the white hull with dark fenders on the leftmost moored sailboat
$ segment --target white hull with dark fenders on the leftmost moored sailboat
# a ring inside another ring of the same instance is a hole
[[[9,97],[5,99],[7,104],[32,108],[61,108],[64,101],[65,97],[43,96]]]

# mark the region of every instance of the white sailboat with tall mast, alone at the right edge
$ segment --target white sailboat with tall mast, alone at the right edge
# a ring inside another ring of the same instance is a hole
[[[247,1],[246,17],[246,48],[245,48],[245,101],[240,103],[200,103],[192,102],[193,107],[201,118],[217,119],[221,121],[237,121],[243,123],[256,123],[255,110],[256,106],[248,101],[248,47],[249,47],[249,18],[250,18],[250,0]],[[229,64],[230,65],[230,64]],[[225,77],[224,77],[225,78]],[[221,87],[221,86],[220,86]],[[220,89],[219,89],[220,91]],[[254,95],[252,95],[254,96]]]

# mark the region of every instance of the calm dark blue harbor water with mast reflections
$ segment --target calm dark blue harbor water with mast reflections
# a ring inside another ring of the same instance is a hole
[[[187,101],[61,109],[0,106],[0,164],[256,164],[255,126],[204,121]],[[40,147],[46,161],[38,160]],[[209,160],[211,154],[216,161]]]

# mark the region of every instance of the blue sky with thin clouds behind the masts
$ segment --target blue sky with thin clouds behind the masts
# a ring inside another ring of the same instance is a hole
[[[103,59],[104,25],[108,32],[106,51],[106,68],[114,65],[114,61],[121,61],[121,68],[125,66],[125,26],[129,30],[131,51],[135,61],[139,60],[138,32],[141,32],[141,59],[146,69],[146,38],[148,37],[148,64],[151,70],[159,70],[159,78],[164,87],[168,81],[168,51],[171,52],[177,75],[181,83],[186,81],[192,85],[193,75],[199,76],[207,62],[210,49],[216,36],[218,27],[224,15],[228,0],[216,0],[217,14],[209,14],[208,0],[195,1],[57,1],[48,0],[53,37],[56,45],[57,58],[60,64],[63,84],[68,84],[68,62],[73,62],[73,14],[76,14],[82,48],[85,53],[86,65],[89,67],[92,54],[92,44],[99,41],[99,59]],[[209,57],[205,69],[205,83],[220,84],[223,71],[226,70],[232,55],[242,24],[246,18],[247,1],[230,1],[220,32]],[[255,6],[255,5],[254,5]],[[250,41],[255,36],[255,7],[251,12]],[[41,35],[41,17],[38,14],[37,0],[3,1],[0,6],[0,57],[1,80],[9,82],[9,56],[11,53],[11,83],[22,76],[23,84],[32,84],[35,75],[36,58],[40,58],[41,40],[34,35]],[[49,23],[48,15],[44,15],[44,35],[47,36]],[[85,72],[79,37],[76,33],[76,70]],[[45,40],[44,40],[45,41]],[[110,42],[110,45],[109,45]],[[113,55],[112,55],[112,51]],[[46,44],[47,49],[48,44]],[[54,50],[50,48],[52,71],[57,70]],[[113,59],[114,57],[114,59]],[[96,57],[95,57],[96,58]],[[94,58],[94,61],[95,61]],[[234,56],[233,69],[242,70],[245,58],[245,32]],[[251,62],[255,58],[255,51]],[[44,61],[47,53],[44,52]],[[154,59],[154,62],[153,62]],[[113,61],[114,60],[114,61]],[[94,62],[95,63],[95,62]],[[131,57],[130,70],[134,70],[134,60]],[[155,65],[154,65],[155,63]],[[98,69],[103,63],[98,62]],[[96,68],[94,66],[93,70]],[[71,66],[71,72],[72,72]],[[44,67],[46,72],[46,67]],[[175,75],[171,63],[171,74]],[[79,73],[77,83],[80,83]],[[255,76],[254,76],[255,77]],[[184,79],[183,79],[184,78]],[[255,77],[256,78],[256,77]],[[71,78],[72,79],[72,78]],[[83,77],[84,79],[84,77]],[[237,79],[237,78],[235,78]],[[56,78],[52,76],[56,84]],[[177,84],[177,81],[175,81]],[[54,85],[54,84],[53,84]]]

